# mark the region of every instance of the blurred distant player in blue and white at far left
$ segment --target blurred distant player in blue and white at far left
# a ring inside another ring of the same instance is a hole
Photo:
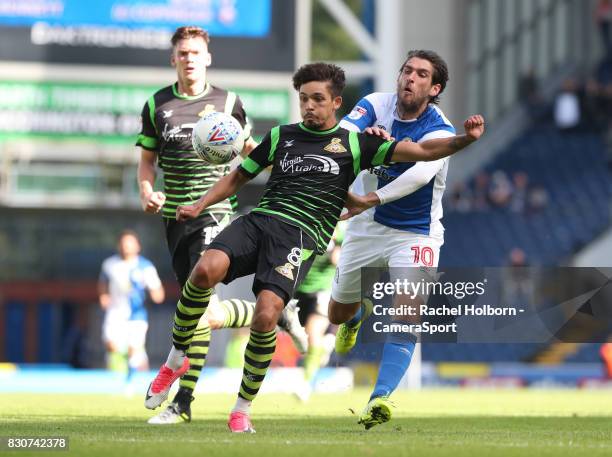
[[[128,382],[136,370],[149,368],[145,350],[149,328],[147,294],[157,304],[165,298],[155,266],[140,255],[138,236],[126,230],[119,235],[117,254],[102,263],[98,296],[100,307],[105,311],[102,339],[107,366],[123,372],[127,359]]]

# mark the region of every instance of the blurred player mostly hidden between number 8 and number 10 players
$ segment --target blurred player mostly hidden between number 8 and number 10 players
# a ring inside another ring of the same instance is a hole
[[[320,368],[327,365],[333,351],[334,333],[327,318],[331,284],[340,258],[340,245],[344,237],[346,223],[336,226],[334,236],[327,246],[327,252],[318,255],[304,282],[295,293],[299,309],[300,323],[308,335],[308,352],[304,357],[304,383],[297,386],[295,394],[306,402],[314,389],[314,381]]]

